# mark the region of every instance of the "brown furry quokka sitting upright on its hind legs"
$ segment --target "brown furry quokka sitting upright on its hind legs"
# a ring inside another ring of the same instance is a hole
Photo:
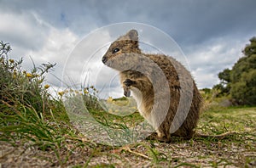
[[[189,71],[177,60],[163,54],[142,53],[138,46],[137,31],[131,30],[111,44],[108,52],[103,56],[102,62],[120,71],[119,76],[125,96],[129,96],[130,92],[133,92],[137,104],[141,101],[138,110],[154,126],[160,140],[170,140],[171,138],[170,127],[177,113],[181,92],[188,95],[188,97],[189,94],[193,95],[186,119],[176,132],[172,132],[172,135],[179,137],[192,137],[194,135],[194,128],[197,125],[201,108],[201,95]],[[160,68],[159,70],[155,70],[155,64]],[[143,70],[143,73],[141,70]],[[178,75],[177,70],[182,76]],[[154,81],[160,79],[158,77],[160,73],[165,75],[168,89],[162,86],[164,82]],[[189,79],[191,82],[189,82]],[[159,89],[155,91],[155,87]],[[167,92],[170,92],[171,97],[168,97]],[[156,115],[150,116],[155,102],[161,104],[158,105]],[[161,111],[162,104],[169,104],[168,112],[163,122],[158,123],[157,115],[163,113]],[[174,123],[174,125],[177,124]]]

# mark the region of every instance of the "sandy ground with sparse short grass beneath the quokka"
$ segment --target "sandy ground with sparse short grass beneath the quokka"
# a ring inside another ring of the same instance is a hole
[[[256,167],[256,108],[207,109],[196,132],[224,137],[173,137],[123,147],[61,137],[59,148],[41,148],[21,138],[0,142],[0,167]]]

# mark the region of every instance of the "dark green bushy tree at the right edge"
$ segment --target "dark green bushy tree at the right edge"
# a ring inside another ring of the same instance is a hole
[[[231,70],[218,73],[220,83],[214,86],[221,93],[230,94],[237,104],[256,104],[256,37],[250,42],[242,51],[244,56]]]

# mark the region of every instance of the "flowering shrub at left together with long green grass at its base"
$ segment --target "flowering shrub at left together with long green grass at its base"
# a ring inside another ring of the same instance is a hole
[[[0,141],[29,137],[53,142],[58,122],[68,121],[64,105],[44,85],[45,73],[55,64],[34,65],[27,72],[21,68],[22,59],[9,59],[10,51],[8,43],[0,42]]]

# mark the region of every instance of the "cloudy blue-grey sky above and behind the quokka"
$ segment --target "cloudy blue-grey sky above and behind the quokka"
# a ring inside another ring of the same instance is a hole
[[[79,78],[99,70],[87,80],[97,76],[99,86],[108,85],[110,96],[120,96],[115,82],[118,77],[103,67],[100,59],[90,59],[91,55],[86,58],[81,52],[93,53],[90,45],[100,41],[104,45],[95,49],[98,55],[103,54],[109,42],[122,32],[99,32],[103,26],[143,23],[177,42],[198,87],[212,87],[218,83],[218,72],[232,67],[248,40],[256,36],[255,7],[254,0],[0,0],[0,40],[10,43],[13,50],[9,57],[25,59],[27,69],[32,68],[30,57],[36,64],[56,63],[55,71],[47,76],[53,88],[61,87],[65,70]],[[76,53],[78,48],[80,53]],[[85,59],[90,64],[84,64]]]

